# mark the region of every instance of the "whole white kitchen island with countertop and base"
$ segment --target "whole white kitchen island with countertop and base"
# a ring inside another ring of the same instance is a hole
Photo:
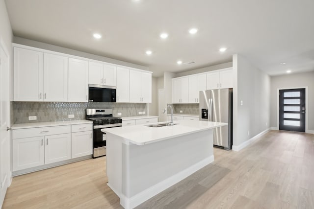
[[[107,136],[107,185],[124,208],[138,206],[212,163],[213,129],[224,125],[180,120],[174,126],[102,129]]]

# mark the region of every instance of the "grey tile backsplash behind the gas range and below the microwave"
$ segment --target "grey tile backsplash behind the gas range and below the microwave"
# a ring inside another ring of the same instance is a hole
[[[11,105],[12,123],[49,122],[85,119],[87,108],[112,108],[113,115],[138,116],[145,111],[145,103],[112,103],[112,102],[13,102]],[[13,113],[13,114],[12,114]],[[68,118],[74,115],[74,118]],[[36,120],[28,120],[28,116],[37,116]]]

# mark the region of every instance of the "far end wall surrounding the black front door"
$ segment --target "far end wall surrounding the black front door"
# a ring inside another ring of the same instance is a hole
[[[306,123],[308,124],[308,130],[314,132],[314,72],[272,76],[270,80],[270,126],[278,128],[278,89],[308,87],[308,97],[305,98],[308,101],[308,107],[306,107],[308,121]]]

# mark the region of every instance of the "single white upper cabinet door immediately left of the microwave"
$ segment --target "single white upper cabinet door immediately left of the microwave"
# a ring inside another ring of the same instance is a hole
[[[88,102],[88,62],[69,58],[69,102]]]

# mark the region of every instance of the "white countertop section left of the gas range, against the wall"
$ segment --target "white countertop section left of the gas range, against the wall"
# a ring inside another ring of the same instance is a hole
[[[66,120],[66,121],[52,121],[52,122],[35,122],[35,123],[16,123],[12,125],[12,129],[23,129],[23,128],[40,128],[49,126],[60,126],[60,125],[76,125],[84,123],[93,123],[91,120]]]

